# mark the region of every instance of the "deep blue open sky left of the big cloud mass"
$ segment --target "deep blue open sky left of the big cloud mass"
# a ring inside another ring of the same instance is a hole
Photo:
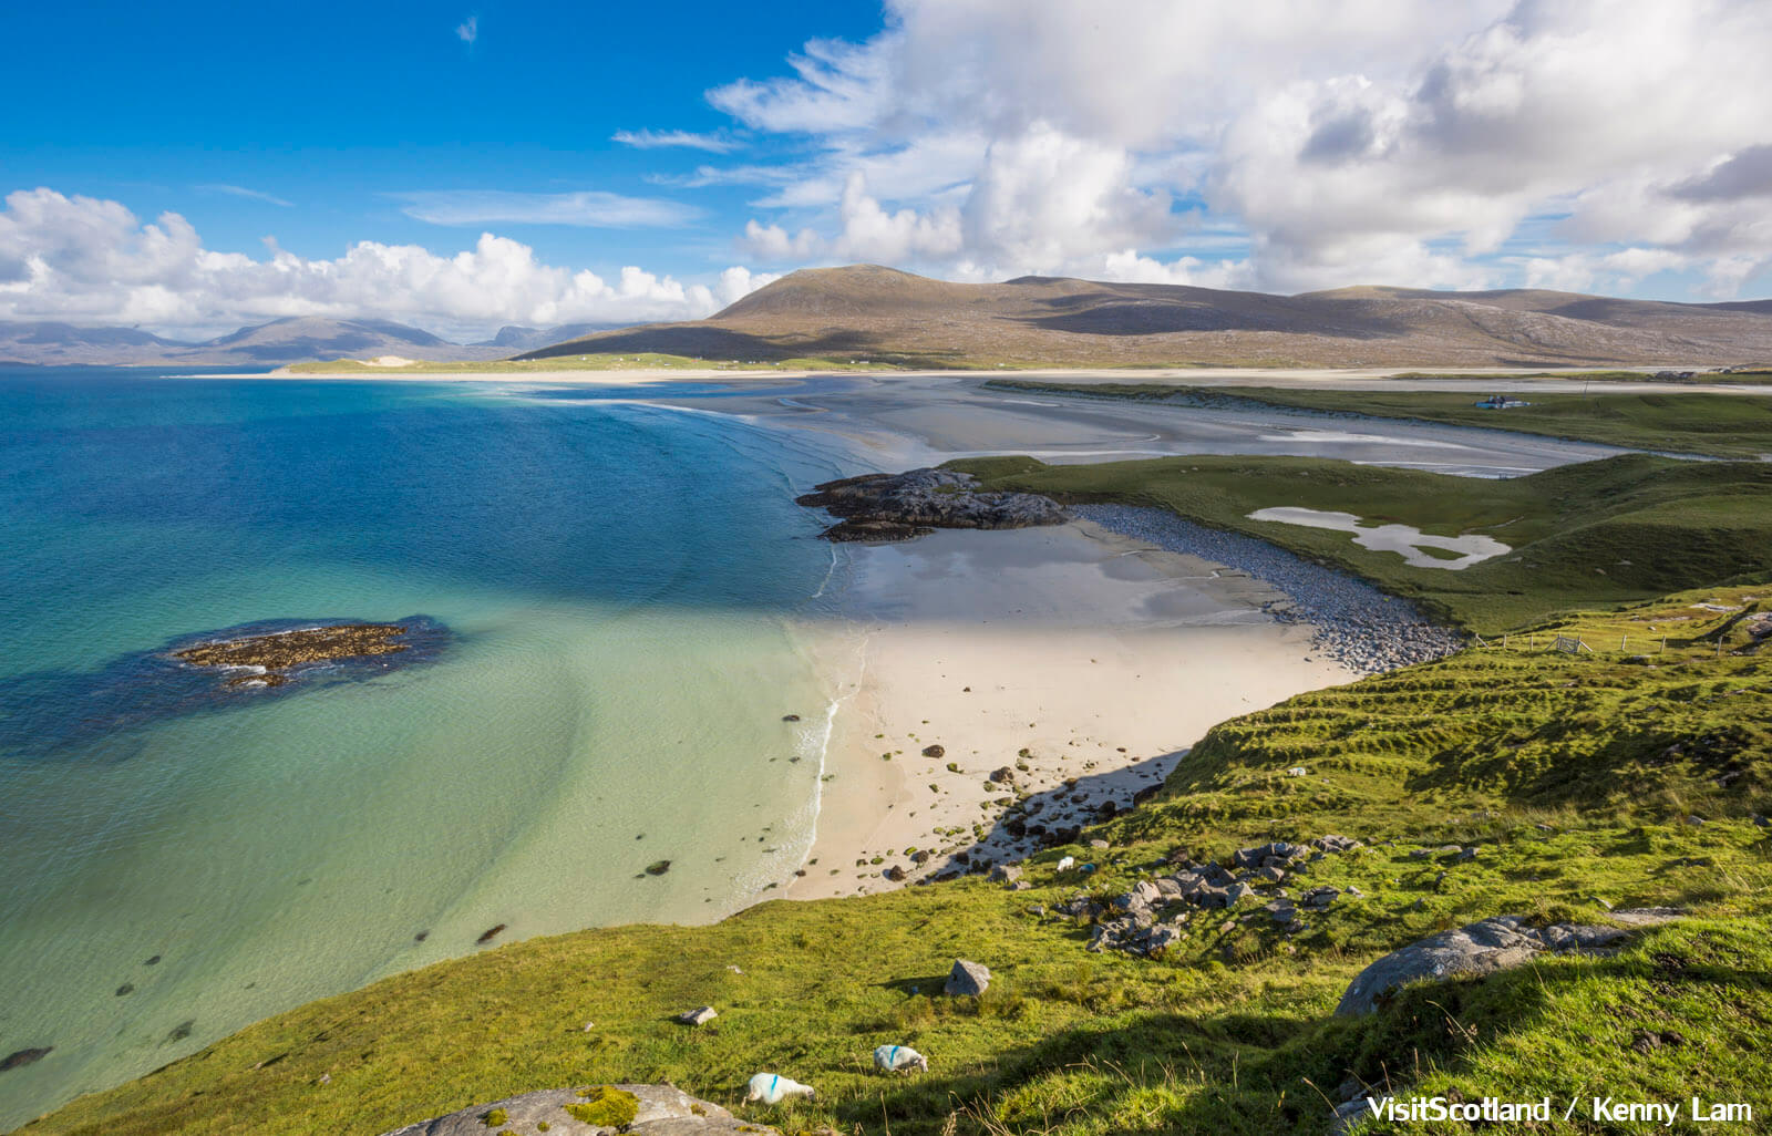
[[[457,34],[470,19],[471,44]],[[41,50],[9,53],[0,69],[5,105],[32,108],[0,124],[5,190],[44,184],[147,218],[172,209],[209,248],[257,255],[275,234],[303,257],[360,239],[462,239],[406,216],[404,193],[592,190],[673,200],[700,220],[663,239],[650,229],[498,229],[574,268],[696,273],[732,262],[734,225],[721,218],[742,211],[744,190],[657,186],[649,177],[691,174],[714,154],[634,149],[613,135],[730,129],[703,90],[781,71],[812,35],[867,37],[881,9],[43,4],[18,5],[7,25],[12,44]]]

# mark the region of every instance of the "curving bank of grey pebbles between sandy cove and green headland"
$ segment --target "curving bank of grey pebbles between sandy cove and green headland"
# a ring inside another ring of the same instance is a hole
[[[1274,585],[1286,594],[1286,603],[1271,603],[1263,610],[1285,624],[1313,626],[1311,647],[1356,673],[1432,663],[1464,649],[1462,633],[1432,622],[1407,599],[1265,541],[1207,528],[1166,509],[1072,505],[1070,512],[1166,551],[1214,560]]]

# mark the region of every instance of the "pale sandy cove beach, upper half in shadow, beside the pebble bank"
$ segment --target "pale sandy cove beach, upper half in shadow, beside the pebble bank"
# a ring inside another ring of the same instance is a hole
[[[1003,822],[1017,790],[1033,824],[1074,828],[1212,725],[1354,677],[1265,610],[1285,599],[1272,585],[1092,523],[843,555],[843,619],[803,629],[838,689],[790,899],[1021,860],[1038,836]]]

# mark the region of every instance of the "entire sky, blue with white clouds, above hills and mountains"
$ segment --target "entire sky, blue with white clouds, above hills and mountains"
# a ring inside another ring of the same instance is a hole
[[[0,319],[475,335],[856,261],[1772,291],[1758,0],[87,4],[7,37]]]

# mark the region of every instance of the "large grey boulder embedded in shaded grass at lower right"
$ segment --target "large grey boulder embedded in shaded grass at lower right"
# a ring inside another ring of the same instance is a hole
[[[1614,911],[1609,918],[1630,927],[1653,927],[1682,914],[1673,907],[1643,907]],[[1354,976],[1334,1012],[1357,1017],[1373,1012],[1380,998],[1411,982],[1494,975],[1531,962],[1540,953],[1609,953],[1628,934],[1623,927],[1529,927],[1517,914],[1501,914],[1393,950]]]

